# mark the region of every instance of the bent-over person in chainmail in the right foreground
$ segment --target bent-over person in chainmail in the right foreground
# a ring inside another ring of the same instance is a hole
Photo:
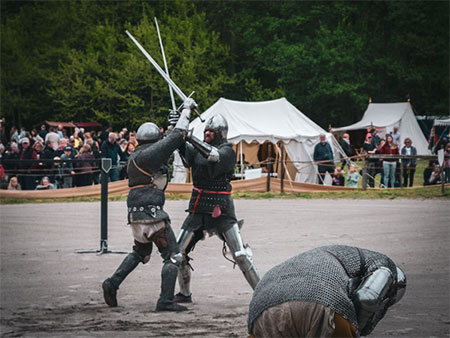
[[[405,294],[406,277],[386,255],[319,247],[270,269],[253,293],[250,337],[359,337]]]

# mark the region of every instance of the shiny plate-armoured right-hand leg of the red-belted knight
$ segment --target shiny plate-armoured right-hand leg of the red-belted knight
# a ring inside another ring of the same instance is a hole
[[[245,279],[254,290],[260,278],[252,261],[250,247],[248,245],[244,245],[242,242],[238,224],[234,224],[231,229],[225,231],[223,233],[223,237],[231,250],[233,258],[244,274]]]

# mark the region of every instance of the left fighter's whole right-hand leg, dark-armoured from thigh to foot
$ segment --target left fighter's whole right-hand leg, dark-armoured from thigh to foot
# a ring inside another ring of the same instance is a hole
[[[178,249],[178,244],[170,225],[155,234],[154,241],[164,260],[161,270],[161,294],[156,305],[156,311],[186,311],[187,308],[185,306],[179,305],[174,301],[175,284],[182,254]]]

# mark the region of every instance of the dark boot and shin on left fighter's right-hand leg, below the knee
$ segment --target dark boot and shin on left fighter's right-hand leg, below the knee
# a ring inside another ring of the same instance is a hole
[[[156,311],[186,311],[187,307],[174,302],[175,283],[178,267],[172,262],[164,263],[161,270],[161,294],[156,304]]]

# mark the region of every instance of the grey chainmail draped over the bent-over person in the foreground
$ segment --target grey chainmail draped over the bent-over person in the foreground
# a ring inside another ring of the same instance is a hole
[[[358,328],[349,296],[349,279],[364,277],[381,266],[396,274],[395,264],[387,256],[366,249],[360,252],[363,259],[356,247],[325,246],[301,253],[269,270],[258,283],[250,303],[249,332],[264,310],[295,300],[327,306]]]

